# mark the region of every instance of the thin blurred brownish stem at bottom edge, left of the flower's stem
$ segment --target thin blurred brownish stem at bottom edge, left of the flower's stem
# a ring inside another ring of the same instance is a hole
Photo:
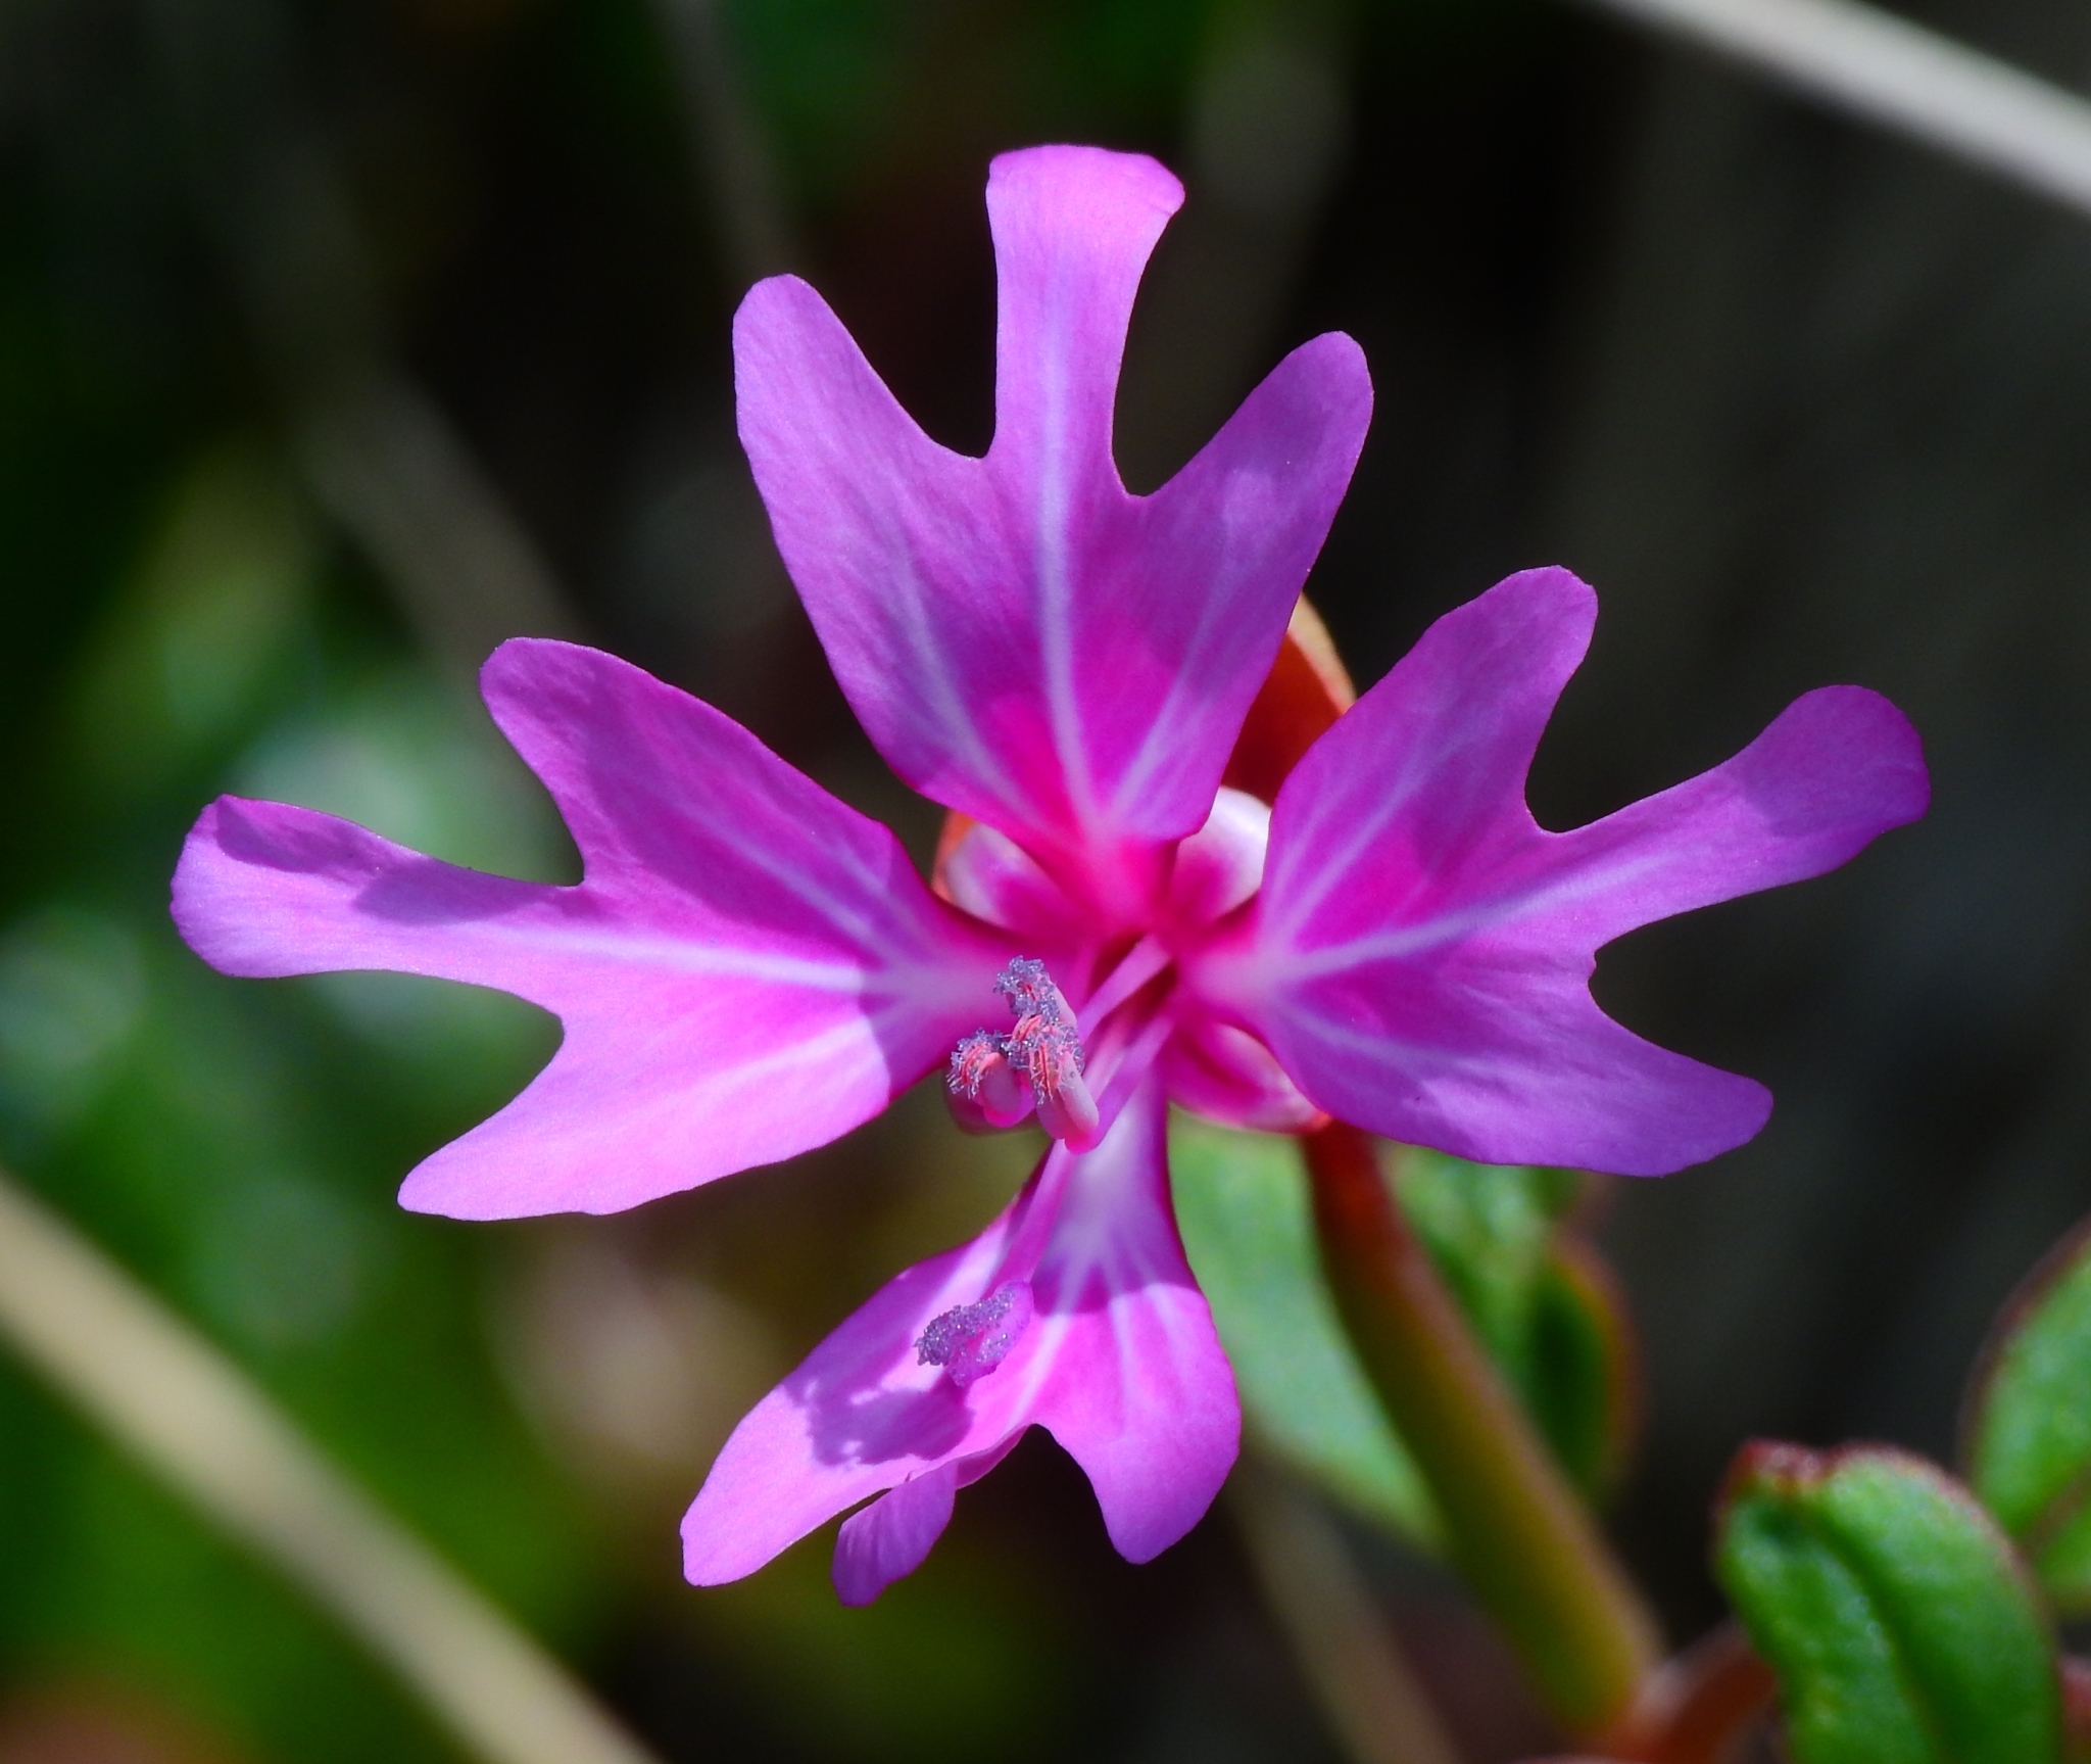
[[[1342,1534],[1255,1450],[1227,1479],[1248,1563],[1353,1764],[1460,1764]]]

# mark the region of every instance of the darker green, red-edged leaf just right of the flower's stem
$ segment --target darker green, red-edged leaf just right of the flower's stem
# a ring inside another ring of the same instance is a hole
[[[1585,1494],[1602,1494],[1625,1458],[1635,1375],[1610,1279],[1564,1228],[1583,1178],[1405,1147],[1395,1186],[1562,1469]]]

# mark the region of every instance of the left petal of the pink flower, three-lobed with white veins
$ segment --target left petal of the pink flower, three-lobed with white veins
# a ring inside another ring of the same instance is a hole
[[[562,642],[504,644],[483,686],[573,829],[577,887],[238,797],[174,879],[182,935],[226,973],[441,975],[560,1017],[552,1063],[406,1205],[615,1212],[769,1163],[884,1109],[995,1009],[1012,952],[730,718]]]

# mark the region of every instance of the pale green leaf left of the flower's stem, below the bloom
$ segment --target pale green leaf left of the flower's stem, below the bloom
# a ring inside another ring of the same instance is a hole
[[[1322,1279],[1299,1145],[1175,1115],[1169,1163],[1255,1435],[1361,1517],[1434,1548],[1430,1496]]]

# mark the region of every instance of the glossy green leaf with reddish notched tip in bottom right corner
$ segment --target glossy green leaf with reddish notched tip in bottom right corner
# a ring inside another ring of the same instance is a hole
[[[1905,1452],[1744,1448],[1715,1567],[1796,1764],[2055,1764],[2039,1599],[1982,1507]]]

